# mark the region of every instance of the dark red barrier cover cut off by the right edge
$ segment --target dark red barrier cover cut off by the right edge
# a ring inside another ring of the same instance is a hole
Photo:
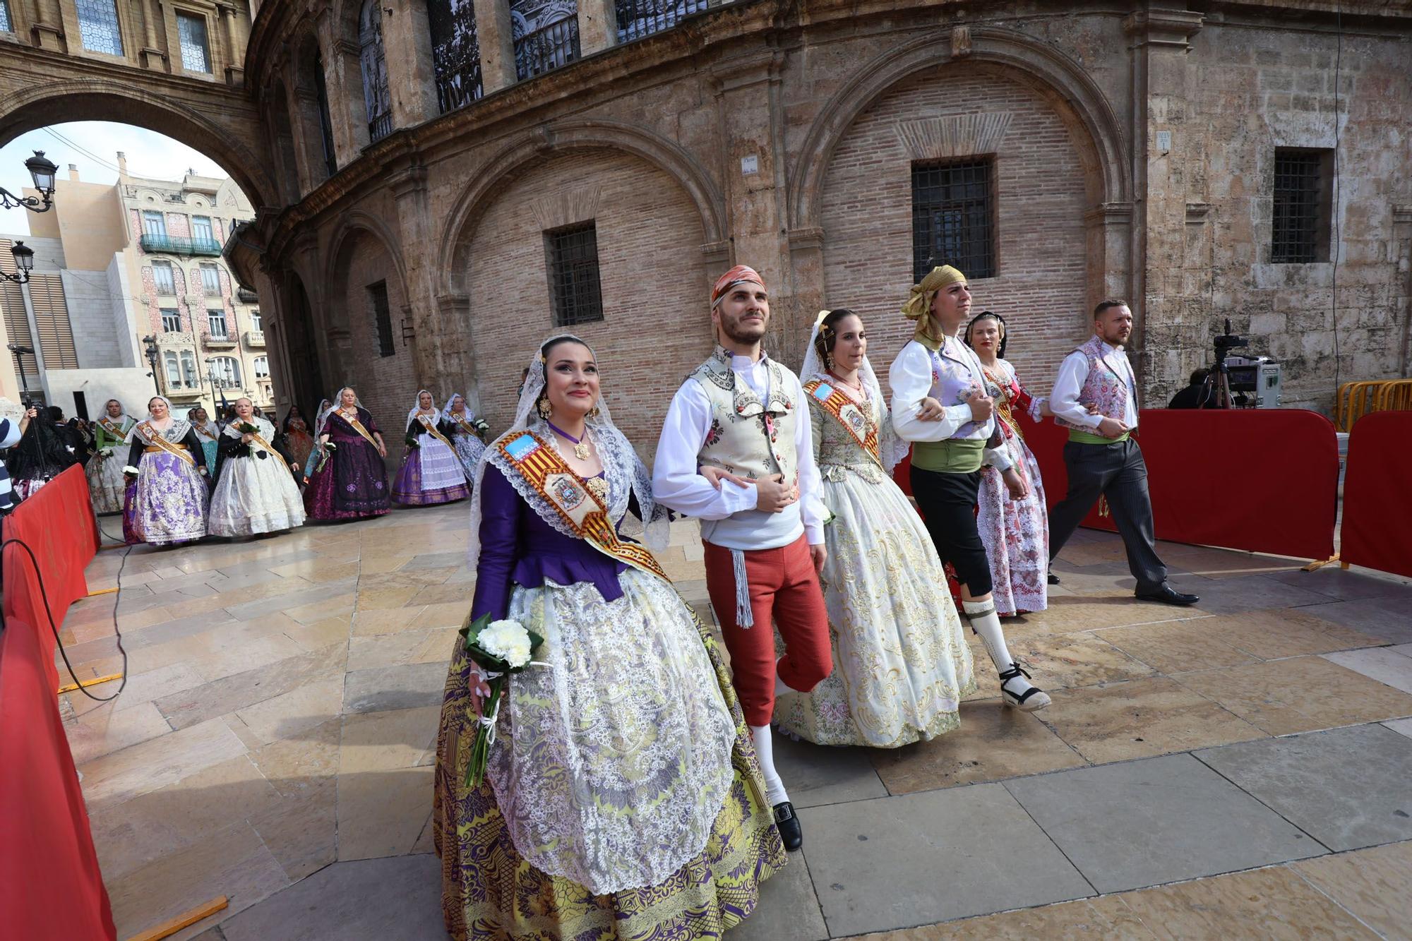
[[[1412,576],[1412,411],[1375,411],[1353,425],[1341,535],[1344,562]]]

